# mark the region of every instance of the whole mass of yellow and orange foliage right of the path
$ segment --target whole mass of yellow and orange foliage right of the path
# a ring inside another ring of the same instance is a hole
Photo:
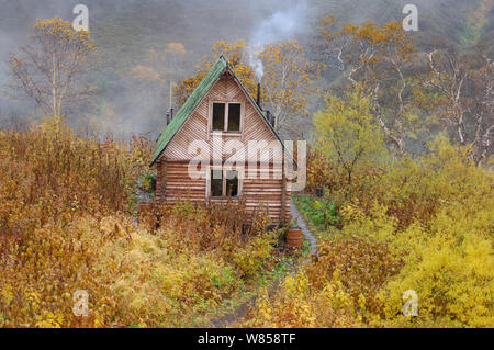
[[[321,238],[319,256],[258,302],[244,325],[492,327],[494,178],[468,153],[439,138],[429,155],[357,184],[339,205],[343,229]],[[321,167],[310,158],[313,166]],[[327,189],[327,200],[339,191],[348,185]],[[417,293],[416,317],[402,314],[408,290]]]

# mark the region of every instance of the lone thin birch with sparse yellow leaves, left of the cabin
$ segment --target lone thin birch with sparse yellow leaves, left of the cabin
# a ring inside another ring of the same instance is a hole
[[[10,56],[11,88],[34,100],[46,117],[63,120],[68,106],[93,91],[86,78],[94,52],[89,32],[75,31],[59,18],[37,20],[26,43]]]

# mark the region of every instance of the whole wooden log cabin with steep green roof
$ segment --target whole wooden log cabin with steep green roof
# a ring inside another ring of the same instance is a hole
[[[157,140],[156,201],[242,202],[249,218],[265,211],[270,224],[288,225],[284,166],[296,165],[272,124],[220,57]]]

